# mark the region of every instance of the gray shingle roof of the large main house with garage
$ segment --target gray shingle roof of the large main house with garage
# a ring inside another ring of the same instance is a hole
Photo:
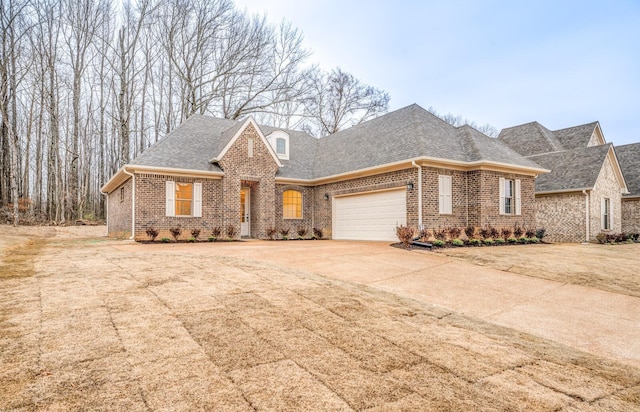
[[[244,121],[194,115],[131,163],[220,171],[210,160],[219,155],[243,124]],[[282,130],[259,127],[265,136]],[[300,131],[285,131],[290,139],[290,160],[282,160],[278,177],[328,177],[423,156],[540,168],[497,139],[469,126],[453,127],[416,104],[322,139]]]

